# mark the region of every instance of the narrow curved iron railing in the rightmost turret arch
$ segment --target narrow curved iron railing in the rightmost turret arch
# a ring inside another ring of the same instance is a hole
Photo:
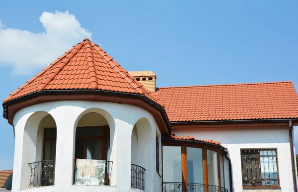
[[[131,166],[131,188],[145,191],[145,168],[132,164]]]

